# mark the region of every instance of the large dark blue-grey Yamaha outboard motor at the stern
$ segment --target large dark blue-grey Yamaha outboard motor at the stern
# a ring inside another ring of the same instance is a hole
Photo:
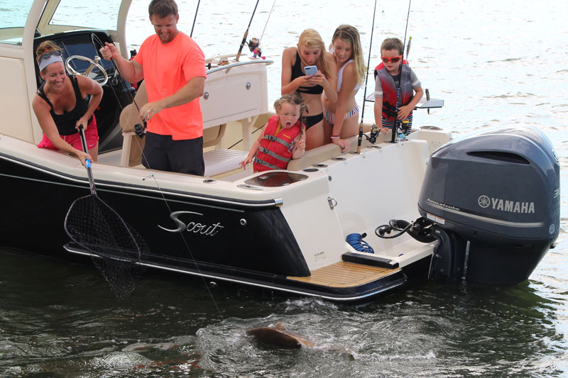
[[[484,130],[439,148],[418,207],[439,240],[431,273],[481,284],[516,284],[559,234],[560,167],[534,128]]]

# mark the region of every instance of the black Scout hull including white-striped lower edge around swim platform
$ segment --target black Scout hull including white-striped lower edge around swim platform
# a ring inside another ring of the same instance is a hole
[[[1,154],[0,172],[6,189],[0,218],[6,232],[0,235],[0,245],[58,257],[64,250],[89,255],[63,230],[72,202],[89,195],[85,177]],[[349,302],[375,299],[408,280],[398,267],[360,284],[302,280],[314,272],[278,199],[239,200],[103,180],[96,186],[99,198],[146,240],[150,252],[139,262],[146,267]]]

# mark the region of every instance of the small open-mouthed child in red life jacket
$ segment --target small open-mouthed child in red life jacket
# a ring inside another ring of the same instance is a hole
[[[249,155],[239,163],[241,168],[253,162],[254,172],[270,169],[286,169],[288,162],[299,159],[305,153],[305,126],[300,116],[305,110],[298,94],[285,94],[274,102],[276,115],[263,127]]]

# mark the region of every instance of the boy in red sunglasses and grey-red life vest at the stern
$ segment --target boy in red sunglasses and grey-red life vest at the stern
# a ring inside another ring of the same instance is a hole
[[[375,123],[381,126],[381,133],[388,133],[395,123],[397,89],[400,88],[401,106],[398,106],[398,120],[408,120],[410,134],[413,126],[413,109],[422,99],[420,80],[403,59],[403,43],[398,38],[386,38],[381,45],[381,64],[376,67],[375,79]]]

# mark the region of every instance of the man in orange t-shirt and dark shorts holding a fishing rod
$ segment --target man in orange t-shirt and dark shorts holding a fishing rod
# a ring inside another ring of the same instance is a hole
[[[140,109],[140,118],[148,120],[144,167],[202,176],[205,58],[197,43],[178,30],[175,1],[153,0],[148,13],[155,35],[146,38],[133,60],[121,57],[110,43],[101,52],[115,60],[126,81],[146,79],[148,104]]]

